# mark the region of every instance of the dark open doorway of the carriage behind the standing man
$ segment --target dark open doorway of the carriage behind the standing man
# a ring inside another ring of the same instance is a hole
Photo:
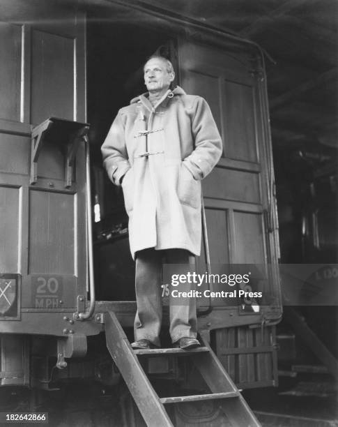
[[[118,110],[144,93],[143,64],[160,52],[172,59],[169,36],[130,22],[91,19],[87,29],[87,100],[91,123],[92,198],[96,299],[135,300],[135,264],[130,255],[128,215],[122,189],[102,167],[100,147]]]

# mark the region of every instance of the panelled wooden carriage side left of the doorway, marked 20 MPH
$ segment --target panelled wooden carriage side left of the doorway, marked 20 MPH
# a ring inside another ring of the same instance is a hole
[[[85,28],[82,14],[46,3],[1,4],[0,272],[22,276],[22,308],[59,309],[86,292],[84,147],[65,188],[64,150],[47,141],[30,185],[31,128],[86,120]]]

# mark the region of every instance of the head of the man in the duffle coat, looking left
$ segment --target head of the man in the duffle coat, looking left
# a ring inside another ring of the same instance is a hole
[[[169,89],[175,74],[168,73],[167,63],[160,58],[152,58],[144,66],[144,83],[149,92]]]

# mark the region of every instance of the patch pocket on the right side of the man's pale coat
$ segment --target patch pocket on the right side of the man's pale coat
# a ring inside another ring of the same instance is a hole
[[[177,194],[181,203],[195,209],[201,206],[201,181],[194,179],[184,163],[180,165]]]

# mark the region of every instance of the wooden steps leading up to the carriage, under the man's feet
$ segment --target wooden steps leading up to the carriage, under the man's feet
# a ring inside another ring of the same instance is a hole
[[[165,409],[166,405],[179,405],[185,402],[200,404],[211,399],[217,400],[217,404],[226,414],[231,426],[254,427],[261,425],[208,343],[202,342],[203,347],[192,350],[180,350],[178,348],[132,350],[120,322],[111,311],[105,313],[105,332],[108,350],[148,427],[174,426]],[[190,358],[201,373],[211,393],[160,398],[139,362],[139,357],[159,355]],[[199,426],[202,425],[199,424]]]

